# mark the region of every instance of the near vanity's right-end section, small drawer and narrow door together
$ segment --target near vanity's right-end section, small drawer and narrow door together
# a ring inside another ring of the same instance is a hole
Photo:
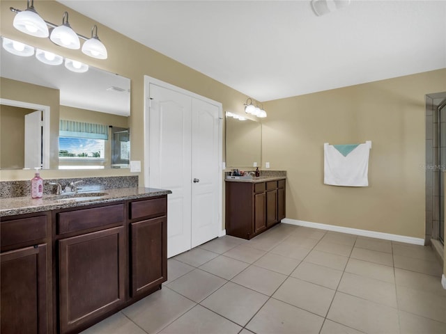
[[[167,201],[130,203],[131,296],[146,296],[167,280]]]

